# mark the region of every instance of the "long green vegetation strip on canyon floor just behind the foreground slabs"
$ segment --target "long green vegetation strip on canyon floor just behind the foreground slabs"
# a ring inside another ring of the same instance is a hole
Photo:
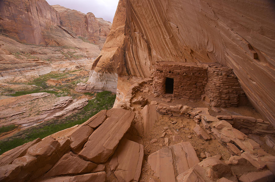
[[[103,109],[111,109],[115,99],[116,95],[111,92],[103,91],[101,93],[97,93],[95,99],[89,100],[88,105],[75,114],[71,114],[65,118],[43,122],[42,124],[27,128],[16,133],[12,137],[0,141],[0,154],[17,146],[23,145],[26,142],[33,141],[36,138],[44,138],[56,133],[57,131],[75,126],[76,124],[82,124],[99,111]]]

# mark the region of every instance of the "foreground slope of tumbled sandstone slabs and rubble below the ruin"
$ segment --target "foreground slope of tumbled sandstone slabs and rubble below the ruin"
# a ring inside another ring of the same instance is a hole
[[[5,152],[0,156],[0,180],[275,179],[273,127],[268,122],[252,115],[213,111],[201,101],[154,97],[152,82],[147,78],[133,84],[124,109],[101,110],[69,132],[60,131]],[[261,130],[249,130],[243,121],[256,122]],[[234,128],[238,124],[247,135]]]

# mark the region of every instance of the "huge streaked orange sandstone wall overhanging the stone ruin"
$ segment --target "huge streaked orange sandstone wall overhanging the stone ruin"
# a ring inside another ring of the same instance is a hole
[[[118,80],[118,103],[156,62],[218,62],[233,69],[253,107],[275,126],[274,43],[271,0],[120,0],[88,84]]]

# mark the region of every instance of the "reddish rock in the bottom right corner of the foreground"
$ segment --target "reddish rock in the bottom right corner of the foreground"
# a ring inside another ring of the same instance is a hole
[[[262,171],[262,172],[251,172],[242,175],[239,178],[240,182],[272,182],[275,179],[273,173],[269,170]]]

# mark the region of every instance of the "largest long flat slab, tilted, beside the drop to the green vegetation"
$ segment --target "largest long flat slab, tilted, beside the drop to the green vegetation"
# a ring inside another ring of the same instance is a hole
[[[107,116],[79,152],[79,155],[88,161],[103,163],[114,153],[119,141],[130,128],[135,113],[113,108],[108,110]]]

